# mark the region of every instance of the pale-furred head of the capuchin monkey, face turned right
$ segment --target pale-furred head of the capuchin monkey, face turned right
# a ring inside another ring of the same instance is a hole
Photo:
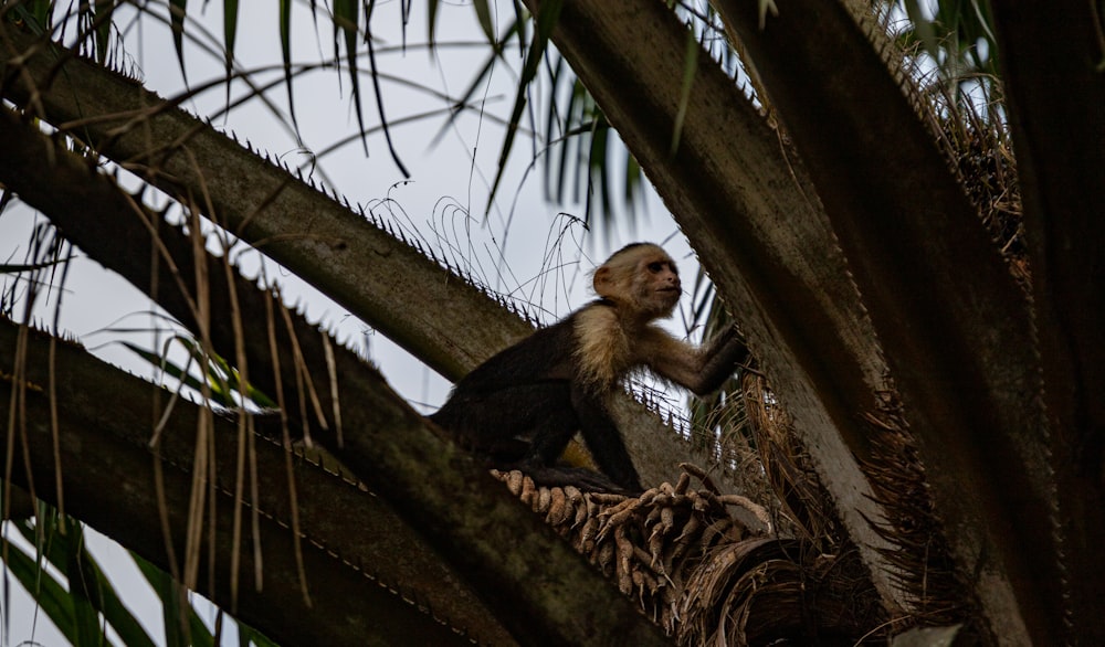
[[[675,262],[659,245],[632,243],[594,271],[594,293],[645,320],[667,317],[683,286]]]

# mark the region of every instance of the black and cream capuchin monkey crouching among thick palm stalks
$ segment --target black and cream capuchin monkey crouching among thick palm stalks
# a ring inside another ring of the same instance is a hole
[[[493,467],[540,485],[636,494],[641,479],[608,397],[642,368],[705,395],[748,350],[733,328],[696,348],[654,324],[682,294],[675,263],[656,245],[621,248],[594,271],[593,286],[597,300],[477,367],[430,418]],[[577,432],[606,477],[557,464]]]

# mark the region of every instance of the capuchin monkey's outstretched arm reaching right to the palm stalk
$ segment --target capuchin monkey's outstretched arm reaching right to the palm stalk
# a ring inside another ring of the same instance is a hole
[[[659,328],[651,329],[642,342],[644,363],[657,375],[690,389],[695,395],[717,390],[738,364],[748,361],[748,347],[735,327],[725,329],[699,348],[673,339]]]

